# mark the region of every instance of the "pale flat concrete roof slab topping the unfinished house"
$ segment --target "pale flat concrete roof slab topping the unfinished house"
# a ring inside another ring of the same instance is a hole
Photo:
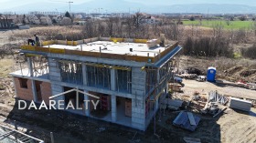
[[[43,47],[60,48],[69,50],[81,50],[87,52],[100,52],[117,55],[131,55],[131,56],[157,56],[165,51],[165,47],[154,46],[149,48],[144,43],[127,43],[127,42],[111,42],[111,41],[95,41],[87,44],[81,44],[78,46],[66,46],[66,45],[48,45]],[[133,52],[130,52],[130,48],[133,48]]]

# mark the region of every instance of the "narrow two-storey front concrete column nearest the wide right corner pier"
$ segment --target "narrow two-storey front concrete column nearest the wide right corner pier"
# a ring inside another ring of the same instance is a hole
[[[111,89],[116,90],[115,69],[111,69]],[[116,96],[112,95],[112,122],[116,121]]]

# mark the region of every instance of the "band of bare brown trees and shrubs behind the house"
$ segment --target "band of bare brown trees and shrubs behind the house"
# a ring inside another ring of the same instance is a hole
[[[176,21],[165,18],[165,23],[143,24],[144,15],[106,20],[90,20],[82,27],[81,33],[55,35],[50,39],[79,40],[95,36],[112,36],[125,38],[158,38],[160,34],[170,40],[177,40],[184,46],[184,54],[190,56],[232,56],[232,47],[240,43],[253,43],[256,38],[256,23],[251,29],[226,30],[217,24],[212,28],[197,25],[177,25]],[[163,18],[164,19],[164,18]]]

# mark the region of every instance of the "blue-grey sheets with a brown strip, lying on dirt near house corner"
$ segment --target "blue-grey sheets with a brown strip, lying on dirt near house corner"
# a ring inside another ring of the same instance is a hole
[[[200,121],[200,117],[197,117],[193,114],[192,114],[192,116],[194,117],[196,125],[191,125],[190,124],[187,112],[184,112],[184,111],[182,111],[178,114],[176,119],[173,121],[173,125],[176,126],[176,127],[185,128],[185,129],[190,130],[190,131],[195,131],[195,129],[197,128],[197,125]]]

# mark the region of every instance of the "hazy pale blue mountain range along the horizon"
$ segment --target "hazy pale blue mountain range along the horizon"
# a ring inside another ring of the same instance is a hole
[[[29,11],[69,11],[68,3],[52,3],[41,1],[19,5],[12,9],[2,7],[0,12],[27,13]],[[224,5],[224,4],[187,4],[187,5],[151,5],[125,0],[91,0],[80,5],[71,4],[71,12],[84,13],[123,13],[123,12],[145,12],[145,13],[205,13],[205,14],[254,14],[256,6],[250,5]]]

